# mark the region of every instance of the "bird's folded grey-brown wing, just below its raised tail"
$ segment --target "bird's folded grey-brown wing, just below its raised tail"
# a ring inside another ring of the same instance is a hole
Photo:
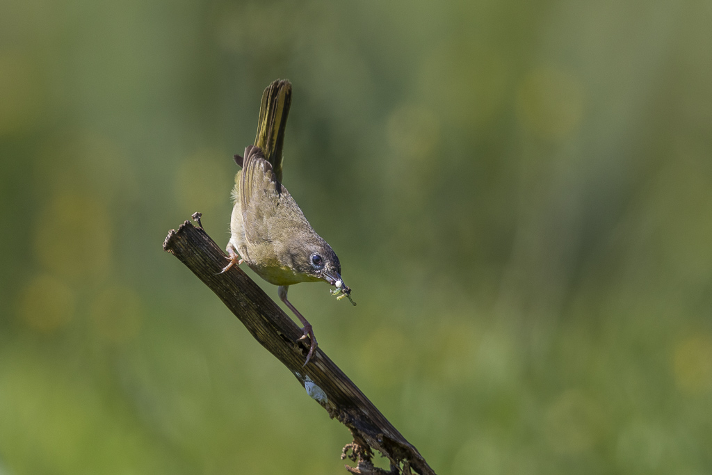
[[[286,190],[277,181],[260,147],[250,145],[245,149],[239,187],[247,241],[253,244],[270,241],[268,217],[281,211],[278,210],[281,194]]]

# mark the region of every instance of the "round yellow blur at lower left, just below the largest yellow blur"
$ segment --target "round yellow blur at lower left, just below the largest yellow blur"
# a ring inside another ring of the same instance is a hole
[[[19,315],[33,330],[43,333],[66,325],[74,315],[74,292],[49,275],[36,276],[19,294]]]

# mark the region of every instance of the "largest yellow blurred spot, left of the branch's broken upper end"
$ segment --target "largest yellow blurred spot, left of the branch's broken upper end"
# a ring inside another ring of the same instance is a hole
[[[111,225],[98,199],[64,192],[39,215],[35,252],[54,273],[72,278],[99,276],[111,264]]]

